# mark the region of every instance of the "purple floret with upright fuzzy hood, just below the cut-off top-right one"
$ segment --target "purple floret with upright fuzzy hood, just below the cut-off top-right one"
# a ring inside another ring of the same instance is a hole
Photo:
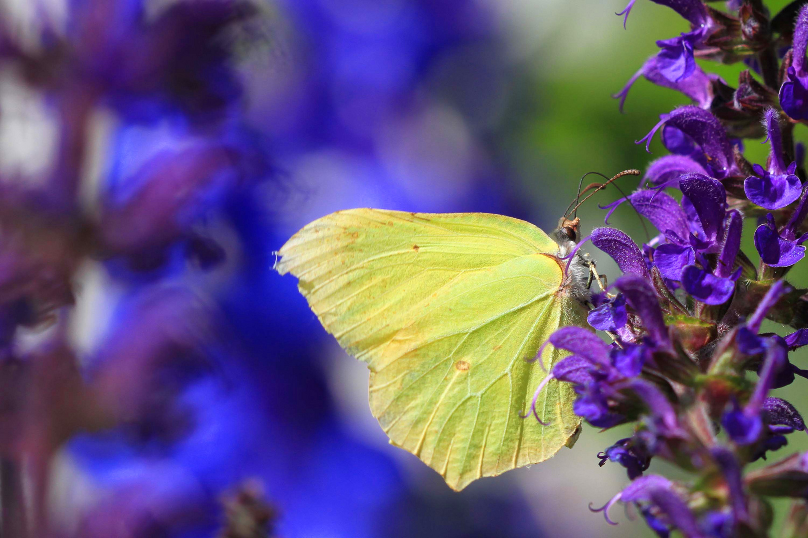
[[[764,170],[760,165],[754,165],[755,176],[747,177],[746,181],[743,181],[743,190],[747,198],[769,210],[788,206],[802,194],[802,181],[794,174],[797,163],[785,166],[779,119],[779,113],[773,108],[766,111],[766,131],[772,144],[768,170]]]

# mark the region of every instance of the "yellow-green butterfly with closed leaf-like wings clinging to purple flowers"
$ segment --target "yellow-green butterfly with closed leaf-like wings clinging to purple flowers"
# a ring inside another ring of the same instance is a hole
[[[558,327],[586,326],[591,262],[570,255],[579,219],[556,240],[485,213],[352,209],[309,223],[276,269],[370,369],[370,408],[390,443],[461,490],[572,446],[581,419],[569,383],[532,359]],[[545,348],[549,369],[563,357]]]

